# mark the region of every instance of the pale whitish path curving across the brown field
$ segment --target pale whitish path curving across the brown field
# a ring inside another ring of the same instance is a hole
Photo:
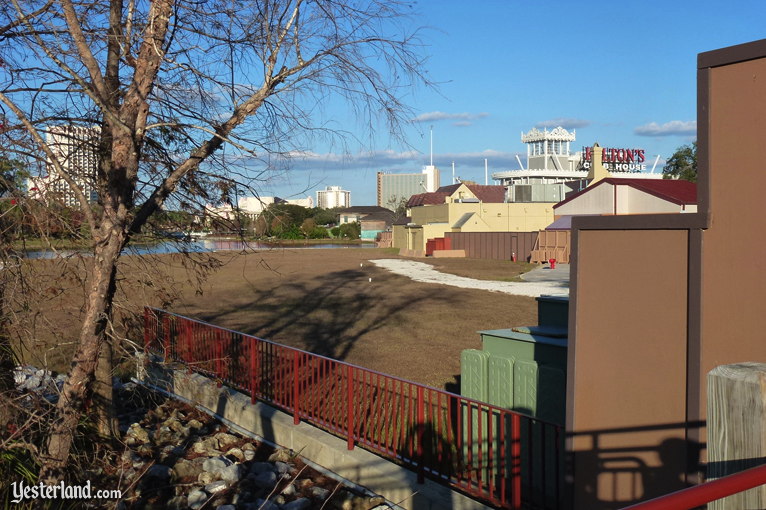
[[[412,278],[416,282],[438,283],[464,289],[489,290],[517,296],[568,296],[569,288],[560,282],[498,282],[474,280],[464,276],[440,273],[433,266],[423,262],[404,259],[371,260],[373,264],[392,273]]]

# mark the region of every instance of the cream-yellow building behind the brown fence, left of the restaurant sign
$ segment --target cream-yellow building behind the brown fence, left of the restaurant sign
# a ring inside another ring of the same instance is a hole
[[[553,202],[508,203],[504,186],[453,184],[414,195],[410,216],[393,227],[393,246],[425,251],[426,241],[447,232],[529,232],[553,221]]]

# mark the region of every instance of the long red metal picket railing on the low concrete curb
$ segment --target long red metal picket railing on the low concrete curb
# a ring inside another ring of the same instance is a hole
[[[418,474],[503,508],[558,509],[562,427],[146,308],[147,352],[216,378]]]

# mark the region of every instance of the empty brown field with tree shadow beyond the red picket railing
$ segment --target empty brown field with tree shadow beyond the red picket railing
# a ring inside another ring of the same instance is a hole
[[[532,298],[417,283],[368,262],[396,257],[390,250],[276,249],[217,257],[222,267],[199,288],[178,255],[126,257],[123,282],[140,285],[125,292],[124,306],[158,304],[149,295],[171,282],[180,293],[170,306],[176,313],[441,388],[454,388],[460,351],[480,348],[477,331],[537,322]],[[529,269],[508,261],[428,262],[483,279],[514,279]],[[147,276],[150,269],[164,276]],[[78,287],[42,306],[54,311],[59,335],[44,343],[55,343],[47,358],[58,370],[65,366],[62,348],[76,334]]]

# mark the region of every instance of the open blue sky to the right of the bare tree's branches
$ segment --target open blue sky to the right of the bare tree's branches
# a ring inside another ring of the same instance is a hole
[[[352,205],[375,205],[378,171],[430,163],[431,130],[442,185],[453,162],[457,177],[482,184],[485,159],[490,175],[518,170],[521,133],[533,127],[574,129],[573,151],[644,149],[647,171],[659,156],[661,172],[696,139],[697,55],[766,38],[764,0],[442,0],[414,10],[437,87],[408,92],[404,142],[352,127],[362,142],[345,151],[317,142],[261,196],[316,200],[316,190],[341,186]]]

